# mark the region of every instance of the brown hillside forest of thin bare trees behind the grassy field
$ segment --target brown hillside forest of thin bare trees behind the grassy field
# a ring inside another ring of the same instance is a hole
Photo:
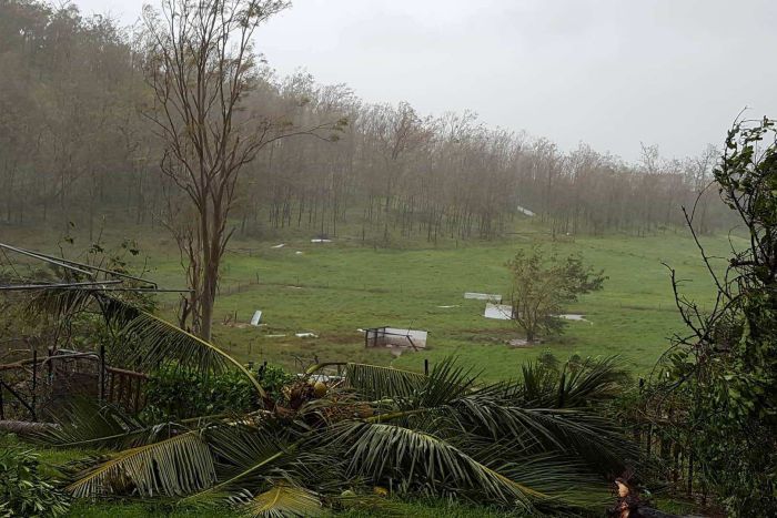
[[[135,37],[74,7],[0,0],[0,222],[73,222],[92,233],[103,217],[155,225],[170,216],[181,194],[159,174]],[[679,205],[694,204],[716,162],[714,149],[667,161],[644,146],[637,164],[585,144],[565,153],[468,112],[369,104],[302,72],[262,70],[243,104],[243,116],[302,129],[349,121],[336,142],[282,139],[244,167],[232,216],[245,235],[339,235],[347,224],[370,240],[490,238],[524,210],[555,233],[644,234],[682,224]],[[697,207],[702,232],[723,224],[716,191]]]

